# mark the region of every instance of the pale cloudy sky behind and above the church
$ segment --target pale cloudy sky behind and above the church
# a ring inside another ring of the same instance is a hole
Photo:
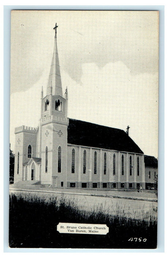
[[[126,130],[157,157],[158,13],[12,11],[10,142],[14,128],[37,127],[57,45],[68,117]]]

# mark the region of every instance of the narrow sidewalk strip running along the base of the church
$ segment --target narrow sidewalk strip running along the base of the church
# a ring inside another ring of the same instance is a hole
[[[99,197],[112,197],[132,200],[143,200],[157,202],[157,197],[153,191],[117,191],[117,190],[95,190],[79,188],[48,188],[35,185],[9,185],[9,190],[34,191],[46,193],[64,193],[71,195],[87,195]]]

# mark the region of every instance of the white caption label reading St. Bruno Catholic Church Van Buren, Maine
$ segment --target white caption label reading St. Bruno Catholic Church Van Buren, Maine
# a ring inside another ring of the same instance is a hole
[[[95,234],[106,235],[108,227],[105,224],[83,224],[83,223],[63,223],[57,225],[57,231],[68,234]]]

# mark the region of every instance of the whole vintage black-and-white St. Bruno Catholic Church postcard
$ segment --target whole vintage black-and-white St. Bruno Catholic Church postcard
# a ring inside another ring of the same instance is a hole
[[[158,11],[11,12],[10,248],[157,248]]]

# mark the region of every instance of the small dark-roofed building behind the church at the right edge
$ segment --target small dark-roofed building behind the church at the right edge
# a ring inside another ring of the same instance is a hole
[[[158,174],[158,161],[155,157],[144,155],[145,162],[145,189],[152,189]]]

